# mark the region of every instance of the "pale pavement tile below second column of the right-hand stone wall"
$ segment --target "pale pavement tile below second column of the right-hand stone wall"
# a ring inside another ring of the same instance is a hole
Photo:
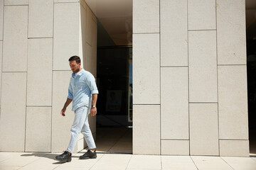
[[[161,165],[163,170],[197,170],[189,156],[161,156]]]

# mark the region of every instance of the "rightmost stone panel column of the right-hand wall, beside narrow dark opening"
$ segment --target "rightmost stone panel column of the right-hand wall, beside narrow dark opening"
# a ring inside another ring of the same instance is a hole
[[[216,3],[220,156],[248,157],[245,1]]]

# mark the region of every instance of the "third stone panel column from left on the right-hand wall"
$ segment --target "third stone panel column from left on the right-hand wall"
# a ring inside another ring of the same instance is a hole
[[[188,0],[190,154],[219,155],[215,0]]]

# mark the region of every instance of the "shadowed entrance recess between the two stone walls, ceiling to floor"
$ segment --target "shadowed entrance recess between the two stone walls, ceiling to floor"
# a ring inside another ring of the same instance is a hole
[[[86,2],[97,16],[97,151],[132,154],[132,0]]]

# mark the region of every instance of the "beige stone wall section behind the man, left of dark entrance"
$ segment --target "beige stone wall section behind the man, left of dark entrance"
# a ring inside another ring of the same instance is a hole
[[[68,96],[68,58],[80,55],[96,77],[97,20],[85,1],[0,1],[0,150],[62,152],[73,112],[60,109]],[[96,119],[90,117],[96,135]],[[79,138],[75,152],[86,145]]]

